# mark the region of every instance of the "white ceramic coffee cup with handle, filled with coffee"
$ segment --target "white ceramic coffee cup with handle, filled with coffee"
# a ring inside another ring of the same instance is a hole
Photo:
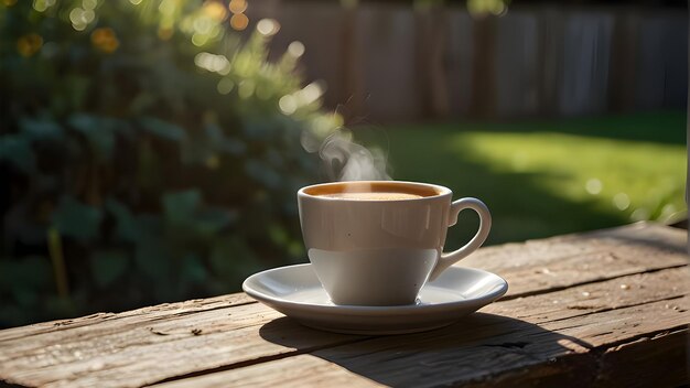
[[[443,186],[399,181],[338,182],[298,192],[302,235],[312,267],[335,304],[416,302],[428,280],[479,248],[492,225],[476,198],[454,202]],[[479,229],[444,254],[448,227],[466,208]]]

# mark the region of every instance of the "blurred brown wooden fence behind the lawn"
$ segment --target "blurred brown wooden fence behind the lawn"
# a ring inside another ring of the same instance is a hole
[[[273,18],[272,51],[304,43],[309,79],[351,122],[582,116],[684,109],[688,15],[638,7],[461,8],[249,2]]]

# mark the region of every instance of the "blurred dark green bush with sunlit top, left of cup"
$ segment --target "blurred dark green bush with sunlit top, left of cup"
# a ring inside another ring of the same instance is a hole
[[[339,118],[301,87],[299,43],[269,63],[277,23],[240,36],[230,15],[0,2],[0,326],[236,291],[302,258],[301,140]]]

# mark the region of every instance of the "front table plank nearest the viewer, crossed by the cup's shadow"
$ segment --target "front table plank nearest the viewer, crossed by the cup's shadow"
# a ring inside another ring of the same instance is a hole
[[[676,303],[682,309],[690,309],[688,297]],[[640,370],[654,373],[628,373],[638,378],[634,380],[637,385],[678,381],[687,376],[682,370],[687,359],[683,346],[688,335],[688,314],[668,309],[667,304],[661,301],[610,310],[590,314],[584,320],[573,317],[541,326],[479,313],[456,325],[427,334],[373,338],[324,348],[312,353],[311,357],[301,356],[299,362],[298,358],[294,362],[293,358],[269,362],[160,387],[203,388],[226,380],[236,385],[251,381],[251,385],[269,386],[280,381],[285,373],[304,376],[301,386],[316,386],[311,385],[308,378],[315,374],[322,380],[333,376],[334,384],[330,386],[347,386],[344,369],[352,374],[353,379],[364,377],[373,380],[371,385],[387,386],[472,384],[513,387],[548,386],[557,381],[558,386],[565,387],[606,386],[616,382],[610,376],[612,371],[619,374],[636,365],[621,363],[647,359],[637,352],[638,346],[642,352],[654,348],[651,356],[662,353],[660,345],[668,343],[672,346],[669,354],[661,357],[665,362],[661,369],[646,366]],[[654,316],[654,320],[640,322],[639,316]],[[477,327],[483,333],[481,338],[463,335],[473,333]],[[672,331],[672,334],[659,333],[659,330]],[[629,351],[623,354],[618,353],[621,349]],[[618,355],[623,358],[616,359]],[[657,365],[660,364],[657,362]],[[659,379],[657,374],[672,376]],[[563,379],[568,377],[571,379]]]

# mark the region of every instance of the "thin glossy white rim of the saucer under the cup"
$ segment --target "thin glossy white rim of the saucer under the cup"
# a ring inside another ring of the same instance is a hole
[[[478,273],[483,277],[495,277],[496,280],[499,282],[499,285],[495,290],[492,290],[490,292],[487,292],[478,298],[459,299],[456,301],[441,302],[441,303],[433,303],[433,304],[405,304],[405,305],[351,305],[351,304],[328,305],[328,304],[316,304],[316,303],[311,303],[311,302],[297,302],[294,300],[289,300],[284,298],[276,298],[276,297],[266,294],[263,292],[260,292],[254,289],[250,285],[250,282],[257,281],[256,279],[266,277],[270,274],[271,272],[283,271],[289,268],[311,268],[311,266],[312,265],[309,262],[299,263],[299,265],[290,265],[290,266],[271,268],[271,269],[267,269],[267,270],[254,273],[249,276],[247,279],[245,279],[245,281],[242,282],[242,290],[249,297],[256,299],[259,302],[265,302],[266,304],[269,304],[270,306],[290,305],[293,308],[298,308],[299,310],[303,312],[323,312],[324,310],[328,310],[330,313],[344,314],[344,315],[352,315],[352,314],[356,314],[356,315],[362,315],[362,314],[363,315],[379,315],[379,314],[380,315],[393,315],[393,314],[408,315],[410,313],[431,313],[431,312],[436,312],[436,311],[439,312],[448,311],[449,309],[454,309],[454,308],[468,309],[472,306],[476,306],[478,310],[479,308],[484,305],[493,303],[494,301],[498,300],[500,297],[505,295],[506,292],[508,292],[508,282],[503,277],[496,273],[486,271],[486,270],[482,270],[477,268],[460,267],[460,266],[450,267],[449,269],[446,269],[446,271],[467,271],[467,272]],[[432,284],[432,283],[433,282],[430,282],[428,284]]]

